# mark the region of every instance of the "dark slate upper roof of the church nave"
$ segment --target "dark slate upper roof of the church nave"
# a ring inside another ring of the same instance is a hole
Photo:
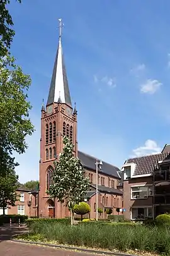
[[[78,157],[81,160],[84,168],[87,168],[87,169],[89,168],[91,170],[96,171],[96,165],[95,165],[96,158],[95,157],[85,154],[81,151],[78,151]],[[120,169],[118,169],[116,166],[108,164],[107,162],[104,162],[104,161],[102,161],[102,162],[103,162],[103,165],[101,166],[101,169],[98,169],[99,173],[108,174],[117,179],[120,179],[120,176],[117,173],[118,171],[120,171]]]

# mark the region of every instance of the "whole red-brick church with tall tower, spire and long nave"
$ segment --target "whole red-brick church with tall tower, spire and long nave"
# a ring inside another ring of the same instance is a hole
[[[61,27],[60,23],[60,30]],[[60,218],[70,214],[64,204],[52,200],[46,193],[52,181],[54,161],[59,160],[63,149],[64,136],[71,138],[74,144],[73,154],[79,157],[84,166],[84,175],[91,181],[91,189],[87,193],[86,201],[91,207],[89,217],[94,218],[96,215],[96,158],[78,150],[77,109],[71,102],[60,31],[47,104],[46,107],[42,105],[38,207],[40,217]],[[122,180],[118,171],[120,170],[116,166],[104,161],[101,168],[98,168],[98,207],[103,210],[103,213],[99,214],[101,218],[106,217],[106,209],[111,208],[112,214],[118,214],[116,208],[123,207]]]

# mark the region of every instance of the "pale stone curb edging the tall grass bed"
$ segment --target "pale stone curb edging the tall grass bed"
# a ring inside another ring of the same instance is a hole
[[[79,247],[69,247],[67,245],[52,245],[52,244],[49,244],[49,243],[39,243],[39,242],[26,241],[26,240],[23,241],[23,240],[11,239],[11,241],[14,241],[14,242],[17,242],[17,243],[26,243],[26,244],[31,244],[31,245],[43,245],[43,246],[47,246],[47,247],[60,248],[60,249],[65,249],[65,250],[77,250],[79,252],[88,252],[88,253],[96,253],[96,254],[104,254],[104,255],[139,256],[139,255],[127,254],[127,253],[115,253],[115,252],[106,252],[106,251],[84,249],[84,248],[79,248]]]

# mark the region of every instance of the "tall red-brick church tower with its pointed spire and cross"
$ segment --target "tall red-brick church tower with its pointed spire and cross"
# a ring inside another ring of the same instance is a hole
[[[69,211],[65,205],[52,200],[46,193],[54,170],[54,161],[59,159],[63,149],[63,137],[71,138],[74,155],[77,156],[77,110],[72,108],[71,95],[62,52],[62,20],[59,19],[59,46],[55,56],[54,69],[47,105],[42,105],[40,138],[40,217],[65,217]]]

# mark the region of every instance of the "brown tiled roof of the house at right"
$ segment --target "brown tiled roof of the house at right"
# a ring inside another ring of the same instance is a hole
[[[153,173],[158,161],[166,159],[170,159],[170,152],[130,158],[126,161],[126,164],[132,162],[136,164],[133,175],[150,174]]]

